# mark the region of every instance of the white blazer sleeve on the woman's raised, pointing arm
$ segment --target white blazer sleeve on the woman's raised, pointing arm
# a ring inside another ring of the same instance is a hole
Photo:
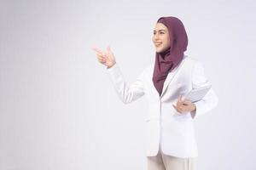
[[[131,103],[144,95],[143,74],[144,71],[137,77],[135,82],[128,86],[117,63],[108,68],[108,75],[113,82],[113,88],[124,104]]]

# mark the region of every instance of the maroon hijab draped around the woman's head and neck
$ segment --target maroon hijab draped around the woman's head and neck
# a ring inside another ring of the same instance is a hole
[[[181,20],[176,17],[161,17],[157,20],[168,28],[172,47],[162,53],[155,53],[153,82],[154,87],[161,95],[164,82],[170,71],[172,71],[182,60],[183,53],[187,50],[188,37]]]

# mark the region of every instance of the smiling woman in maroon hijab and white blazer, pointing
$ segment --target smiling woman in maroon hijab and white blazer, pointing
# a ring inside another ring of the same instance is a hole
[[[200,101],[182,99],[195,88],[210,85],[201,62],[184,55],[188,37],[181,20],[161,17],[152,37],[155,62],[147,66],[136,82],[127,86],[113,52],[94,48],[97,59],[108,67],[113,86],[124,103],[144,94],[148,99],[147,158],[149,170],[191,170],[198,156],[194,120],[212,110],[218,98],[212,88]]]

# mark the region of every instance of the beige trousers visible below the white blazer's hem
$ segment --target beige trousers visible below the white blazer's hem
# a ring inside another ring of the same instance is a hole
[[[147,156],[148,170],[194,170],[195,158],[166,156],[160,150],[157,156]]]

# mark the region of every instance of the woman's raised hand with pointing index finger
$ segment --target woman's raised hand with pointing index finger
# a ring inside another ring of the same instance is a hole
[[[102,65],[106,65],[108,68],[112,67],[116,62],[113,56],[113,52],[108,46],[107,51],[102,51],[99,48],[92,48],[96,51],[97,59]]]

